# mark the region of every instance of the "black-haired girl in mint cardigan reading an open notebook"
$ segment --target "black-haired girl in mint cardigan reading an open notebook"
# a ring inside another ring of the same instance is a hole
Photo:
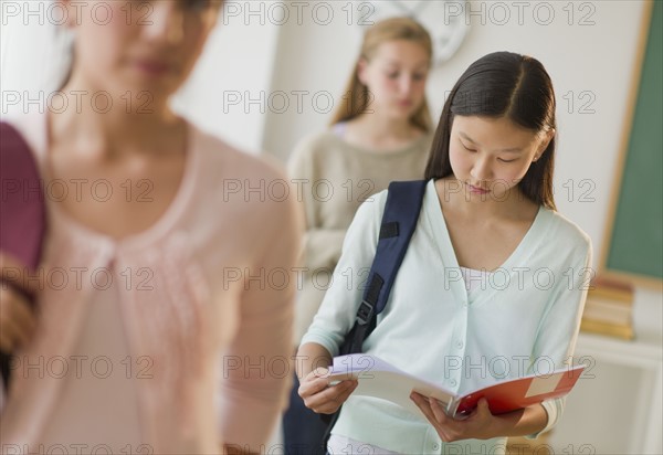
[[[552,83],[537,60],[496,52],[465,71],[435,133],[417,230],[364,352],[454,392],[568,364],[591,244],[556,211],[555,135]],[[412,393],[421,410],[414,415],[352,396],[357,381],[328,385],[325,369],[315,368],[332,363],[355,321],[357,274],[372,262],[386,200],[383,191],[357,212],[298,351],[305,404],[333,413],[345,403],[328,451],[498,454],[507,436],[549,430],[561,399],[502,415],[482,400],[461,421]]]

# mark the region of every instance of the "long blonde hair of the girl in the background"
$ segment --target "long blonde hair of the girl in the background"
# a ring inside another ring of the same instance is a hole
[[[361,60],[370,61],[381,44],[396,40],[420,44],[425,50],[429,60],[432,60],[433,42],[431,35],[419,22],[410,18],[391,18],[377,22],[364,35],[361,53],[355,63],[355,70],[344,92],[347,96],[343,97],[343,102],[334,113],[330,125],[348,121],[364,114],[369,104],[369,91],[359,81],[359,62]],[[410,124],[425,133],[431,129],[432,119],[425,98],[410,117]]]

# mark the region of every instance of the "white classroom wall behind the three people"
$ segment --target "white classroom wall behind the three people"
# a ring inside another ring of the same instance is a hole
[[[304,3],[229,1],[198,67],[175,99],[176,108],[244,149],[265,149],[287,159],[303,136],[325,128],[330,118],[328,95],[334,105],[340,102],[361,39],[357,7],[349,21],[348,2]],[[644,3],[525,2],[528,7],[522,18],[517,3],[472,3],[471,10],[480,14],[465,17],[471,29],[464,44],[451,61],[432,72],[430,104],[436,117],[444,94],[463,70],[485,53],[512,50],[539,59],[551,74],[558,96],[557,202],[560,211],[592,237],[597,263]],[[554,9],[549,25],[540,24],[546,21],[545,9],[534,14],[540,3]],[[329,21],[326,6],[333,8]],[[507,20],[502,13],[504,6],[511,13]],[[583,18],[593,24],[579,24]],[[29,91],[32,96],[50,81],[48,70],[62,62],[63,51],[53,51],[54,28],[48,21],[40,25],[35,17],[3,17],[2,21],[2,93]],[[593,113],[581,113],[586,102],[591,103],[588,108]],[[3,103],[1,113],[21,107]],[[582,202],[583,195],[591,202]]]

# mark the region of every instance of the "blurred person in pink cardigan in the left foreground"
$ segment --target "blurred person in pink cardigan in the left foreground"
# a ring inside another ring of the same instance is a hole
[[[66,285],[40,282],[32,322],[2,289],[0,322],[19,328],[3,340],[17,361],[2,453],[257,453],[290,378],[245,367],[287,363],[295,277],[282,276],[284,286],[248,278],[293,271],[301,220],[294,198],[225,192],[227,180],[255,188],[285,176],[169,107],[222,2],[60,3],[75,33],[62,92],[105,93],[113,107],[72,104],[10,123],[46,188],[110,191],[46,197],[42,276],[71,274]],[[108,23],[90,14],[101,3]]]

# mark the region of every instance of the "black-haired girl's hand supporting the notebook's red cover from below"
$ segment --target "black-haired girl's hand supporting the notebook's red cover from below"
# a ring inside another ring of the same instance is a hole
[[[446,415],[435,399],[429,399],[417,392],[412,392],[410,399],[419,406],[445,443],[460,440],[490,440],[497,436],[491,431],[495,417],[491,414],[486,399],[481,399],[476,409],[464,420],[455,420]]]

